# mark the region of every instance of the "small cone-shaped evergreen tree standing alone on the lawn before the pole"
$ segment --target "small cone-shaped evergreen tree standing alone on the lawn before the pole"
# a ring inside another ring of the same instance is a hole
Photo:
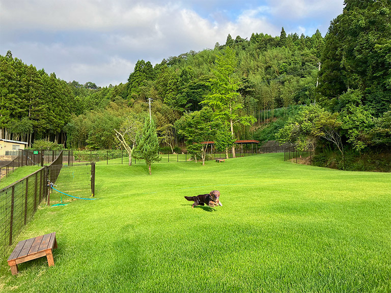
[[[151,175],[151,165],[159,162],[159,140],[157,139],[156,125],[150,118],[145,119],[143,132],[138,135],[136,143],[135,157],[144,159]]]

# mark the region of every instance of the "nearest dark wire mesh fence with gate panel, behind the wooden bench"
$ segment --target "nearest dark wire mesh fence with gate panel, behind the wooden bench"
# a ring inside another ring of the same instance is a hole
[[[0,255],[4,255],[13,245],[22,227],[33,217],[43,200],[50,206],[52,186],[59,185],[69,193],[92,196],[95,164],[64,165],[63,153],[60,151],[50,165],[0,190]],[[51,200],[53,197],[57,199],[57,195],[54,195]]]

